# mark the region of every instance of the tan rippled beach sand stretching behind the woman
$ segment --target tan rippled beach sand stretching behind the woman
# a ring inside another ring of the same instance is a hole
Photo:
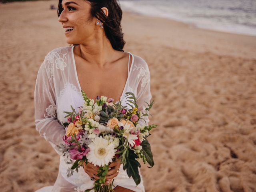
[[[69,46],[57,1],[0,4],[0,188],[53,185],[59,155],[34,125],[34,86],[44,57]],[[256,36],[123,13],[124,50],[150,69],[155,104],[141,161],[146,192],[256,191]]]

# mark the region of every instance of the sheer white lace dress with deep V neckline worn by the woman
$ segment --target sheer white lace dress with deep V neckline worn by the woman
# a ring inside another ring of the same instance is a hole
[[[128,71],[128,78],[120,97],[122,105],[125,105],[125,92],[133,92],[138,99],[139,110],[145,110],[145,103],[150,102],[150,72],[147,63],[139,56],[129,53],[132,64]],[[36,87],[34,91],[35,101],[35,124],[36,130],[50,144],[55,146],[64,143],[62,136],[65,134],[63,122],[66,122],[63,111],[71,111],[70,105],[76,110],[83,104],[81,86],[76,73],[74,60],[74,46],[60,47],[50,51],[39,68]],[[148,118],[145,118],[148,123]],[[141,121],[140,124],[145,123]],[[83,168],[79,172],[74,172],[71,177],[66,176],[66,170],[70,164],[66,164],[62,154],[60,155],[59,172],[54,186],[46,186],[36,192],[79,192],[93,187],[93,181],[84,172]],[[141,176],[141,175],[140,175]],[[120,172],[114,178],[115,186],[122,186],[136,192],[144,192],[143,179],[136,186],[134,180],[128,177],[126,170],[121,165]]]

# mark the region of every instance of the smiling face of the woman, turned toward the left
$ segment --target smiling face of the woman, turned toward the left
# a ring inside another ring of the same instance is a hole
[[[64,27],[68,44],[83,44],[94,38],[95,30],[99,30],[99,26],[96,26],[96,18],[89,20],[91,6],[86,0],[63,0],[62,7],[64,10],[58,21]],[[65,27],[74,29],[67,32]]]

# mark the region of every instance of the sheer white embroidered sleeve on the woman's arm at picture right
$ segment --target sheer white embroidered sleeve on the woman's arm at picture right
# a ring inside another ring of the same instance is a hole
[[[150,104],[150,100],[152,98],[151,92],[150,92],[150,71],[148,68],[148,64],[143,60],[143,63],[141,65],[139,74],[139,84],[137,88],[137,104],[138,104],[138,110],[145,112],[147,104]],[[146,121],[146,125],[148,125],[149,118],[148,116],[144,116],[143,119]],[[143,119],[139,120],[139,124],[145,124],[145,121]]]

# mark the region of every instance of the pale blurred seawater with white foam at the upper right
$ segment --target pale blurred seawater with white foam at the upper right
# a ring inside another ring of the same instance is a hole
[[[120,0],[123,10],[256,36],[256,0]]]

